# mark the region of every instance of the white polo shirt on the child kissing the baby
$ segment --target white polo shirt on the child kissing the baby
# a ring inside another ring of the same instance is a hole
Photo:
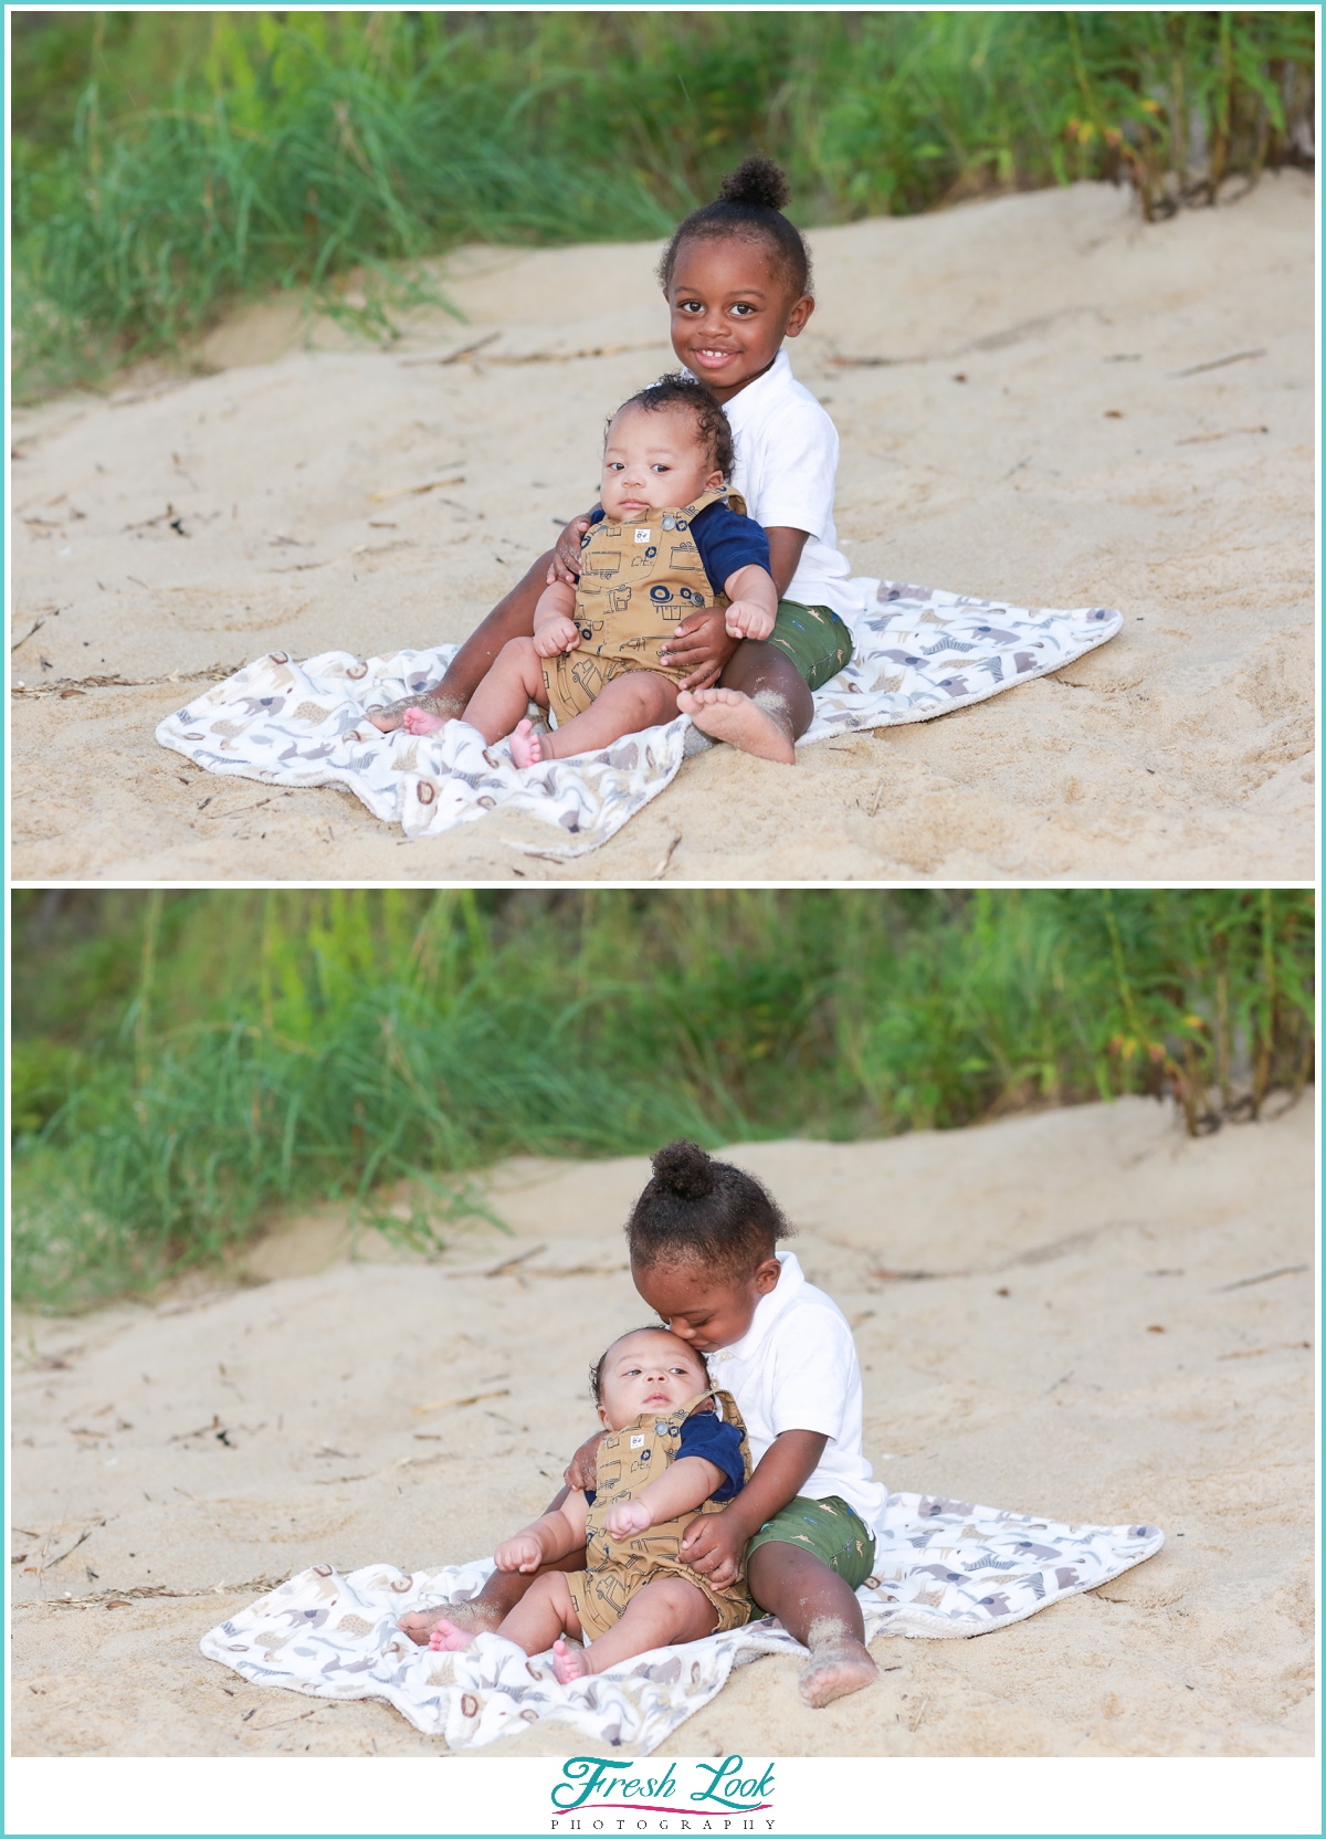
[[[794,1252],[780,1252],[778,1284],[756,1304],[750,1328],[708,1355],[710,1379],[737,1401],[752,1466],[783,1431],[828,1436],[798,1493],[840,1495],[874,1532],[888,1493],[861,1449],[861,1366],[842,1309],[806,1282]]]

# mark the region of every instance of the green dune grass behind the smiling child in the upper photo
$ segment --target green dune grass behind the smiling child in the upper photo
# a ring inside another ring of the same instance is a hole
[[[664,235],[752,147],[804,224],[1311,156],[1313,13],[18,13],[20,392],[302,287],[392,335],[462,241]],[[355,281],[355,292],[346,283]]]

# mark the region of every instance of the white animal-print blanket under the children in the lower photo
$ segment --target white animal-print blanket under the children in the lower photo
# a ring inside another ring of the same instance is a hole
[[[967,1501],[890,1495],[874,1576],[857,1593],[866,1639],[984,1635],[1107,1583],[1162,1545],[1155,1526],[1061,1526]],[[765,1616],[561,1686],[550,1653],[526,1657],[498,1635],[480,1635],[462,1653],[430,1653],[395,1626],[406,1609],[476,1596],[491,1571],[487,1559],[414,1576],[366,1565],[342,1578],[314,1565],[213,1628],[202,1651],[259,1686],[386,1699],[451,1749],[544,1723],[565,1725],[568,1742],[579,1732],[638,1756],[708,1705],[734,1666],[806,1653]]]

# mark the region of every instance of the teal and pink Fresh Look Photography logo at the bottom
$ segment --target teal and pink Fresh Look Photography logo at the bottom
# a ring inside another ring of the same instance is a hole
[[[634,1762],[568,1756],[552,1788],[550,1832],[771,1833],[774,1765],[725,1756],[642,1775]]]

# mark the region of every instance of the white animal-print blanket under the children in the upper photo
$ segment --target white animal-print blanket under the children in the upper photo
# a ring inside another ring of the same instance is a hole
[[[1030,611],[903,581],[852,587],[861,592],[855,655],[815,695],[800,747],[980,702],[1070,664],[1122,625],[1111,607]],[[294,664],[272,651],[167,715],[156,739],[210,772],[342,785],[406,837],[434,837],[500,804],[546,822],[539,853],[555,857],[605,844],[677,776],[697,741],[690,717],[677,715],[600,752],[520,771],[504,741],[486,747],[465,723],[412,736],[381,734],[366,719],[438,682],[454,655],[454,645],[392,658],[327,651]]]

